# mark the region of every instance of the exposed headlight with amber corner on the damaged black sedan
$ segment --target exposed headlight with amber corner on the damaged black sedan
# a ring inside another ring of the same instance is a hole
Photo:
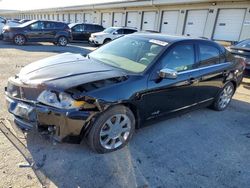
[[[81,108],[86,103],[85,101],[76,101],[69,94],[45,90],[37,98],[40,103],[48,106],[53,106],[61,109]]]

